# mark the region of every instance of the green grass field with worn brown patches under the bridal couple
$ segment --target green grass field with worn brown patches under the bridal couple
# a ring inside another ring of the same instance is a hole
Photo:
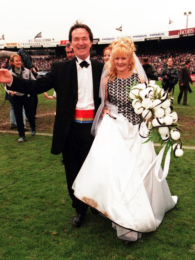
[[[177,85],[175,97],[178,91]],[[22,144],[16,143],[17,131],[9,131],[6,101],[0,118],[0,259],[195,259],[195,150],[189,149],[195,148],[194,93],[188,94],[189,107],[174,102],[182,143],[188,147],[180,160],[171,158],[167,176],[178,203],[155,232],[131,245],[117,238],[108,219],[90,210],[82,227],[71,226],[74,210],[61,155],[50,154],[51,135],[39,135],[52,133],[55,101],[39,95],[38,134],[28,134]]]

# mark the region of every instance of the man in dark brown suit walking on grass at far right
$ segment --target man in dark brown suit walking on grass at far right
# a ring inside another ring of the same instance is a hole
[[[190,86],[190,83],[193,85],[193,81],[190,78],[190,60],[185,61],[185,66],[180,70],[179,73],[179,96],[177,98],[177,103],[180,104],[182,96],[184,93],[183,105],[189,106],[187,104],[187,91]]]

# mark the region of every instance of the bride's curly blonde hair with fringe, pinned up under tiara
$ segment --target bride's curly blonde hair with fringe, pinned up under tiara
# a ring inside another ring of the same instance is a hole
[[[114,64],[114,58],[115,57],[128,57],[130,59],[129,63],[129,69],[128,72],[129,74],[133,72],[135,68],[135,59],[134,59],[134,51],[136,50],[136,46],[134,45],[134,42],[132,41],[131,38],[127,37],[121,37],[116,41],[113,41],[111,43],[112,47],[112,54],[110,57],[110,72],[108,73],[108,76],[111,81],[115,80],[117,76],[117,70]],[[136,69],[136,68],[135,68]]]

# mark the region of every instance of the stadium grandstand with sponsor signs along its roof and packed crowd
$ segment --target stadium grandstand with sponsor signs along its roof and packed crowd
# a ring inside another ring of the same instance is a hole
[[[143,57],[148,57],[150,63],[155,66],[158,73],[161,73],[161,70],[167,65],[167,58],[172,57],[174,66],[176,66],[178,70],[181,69],[181,65],[186,59],[190,59],[190,71],[191,74],[195,74],[194,31],[195,28],[190,28],[158,34],[130,35],[130,37],[137,45],[136,54],[140,61]],[[91,58],[103,62],[103,49],[116,39],[117,37],[94,39]],[[37,40],[38,42],[36,42],[36,39],[29,40],[29,43],[1,43],[0,50],[17,52],[17,50],[23,46],[31,56],[33,65],[37,67],[40,74],[44,75],[49,71],[53,61],[67,59],[64,46],[69,41],[61,40],[52,44],[54,43],[52,39]],[[4,58],[0,58],[0,67],[3,66]]]

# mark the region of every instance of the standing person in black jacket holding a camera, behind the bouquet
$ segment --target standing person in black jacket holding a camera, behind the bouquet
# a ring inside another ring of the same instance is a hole
[[[172,58],[168,58],[167,64],[168,66],[164,67],[164,69],[161,72],[161,78],[163,79],[163,82],[161,84],[164,90],[168,90],[168,92],[170,93],[173,89],[173,93],[174,93],[175,85],[179,80],[179,72],[176,67],[173,67]],[[171,110],[173,110],[172,107]]]

